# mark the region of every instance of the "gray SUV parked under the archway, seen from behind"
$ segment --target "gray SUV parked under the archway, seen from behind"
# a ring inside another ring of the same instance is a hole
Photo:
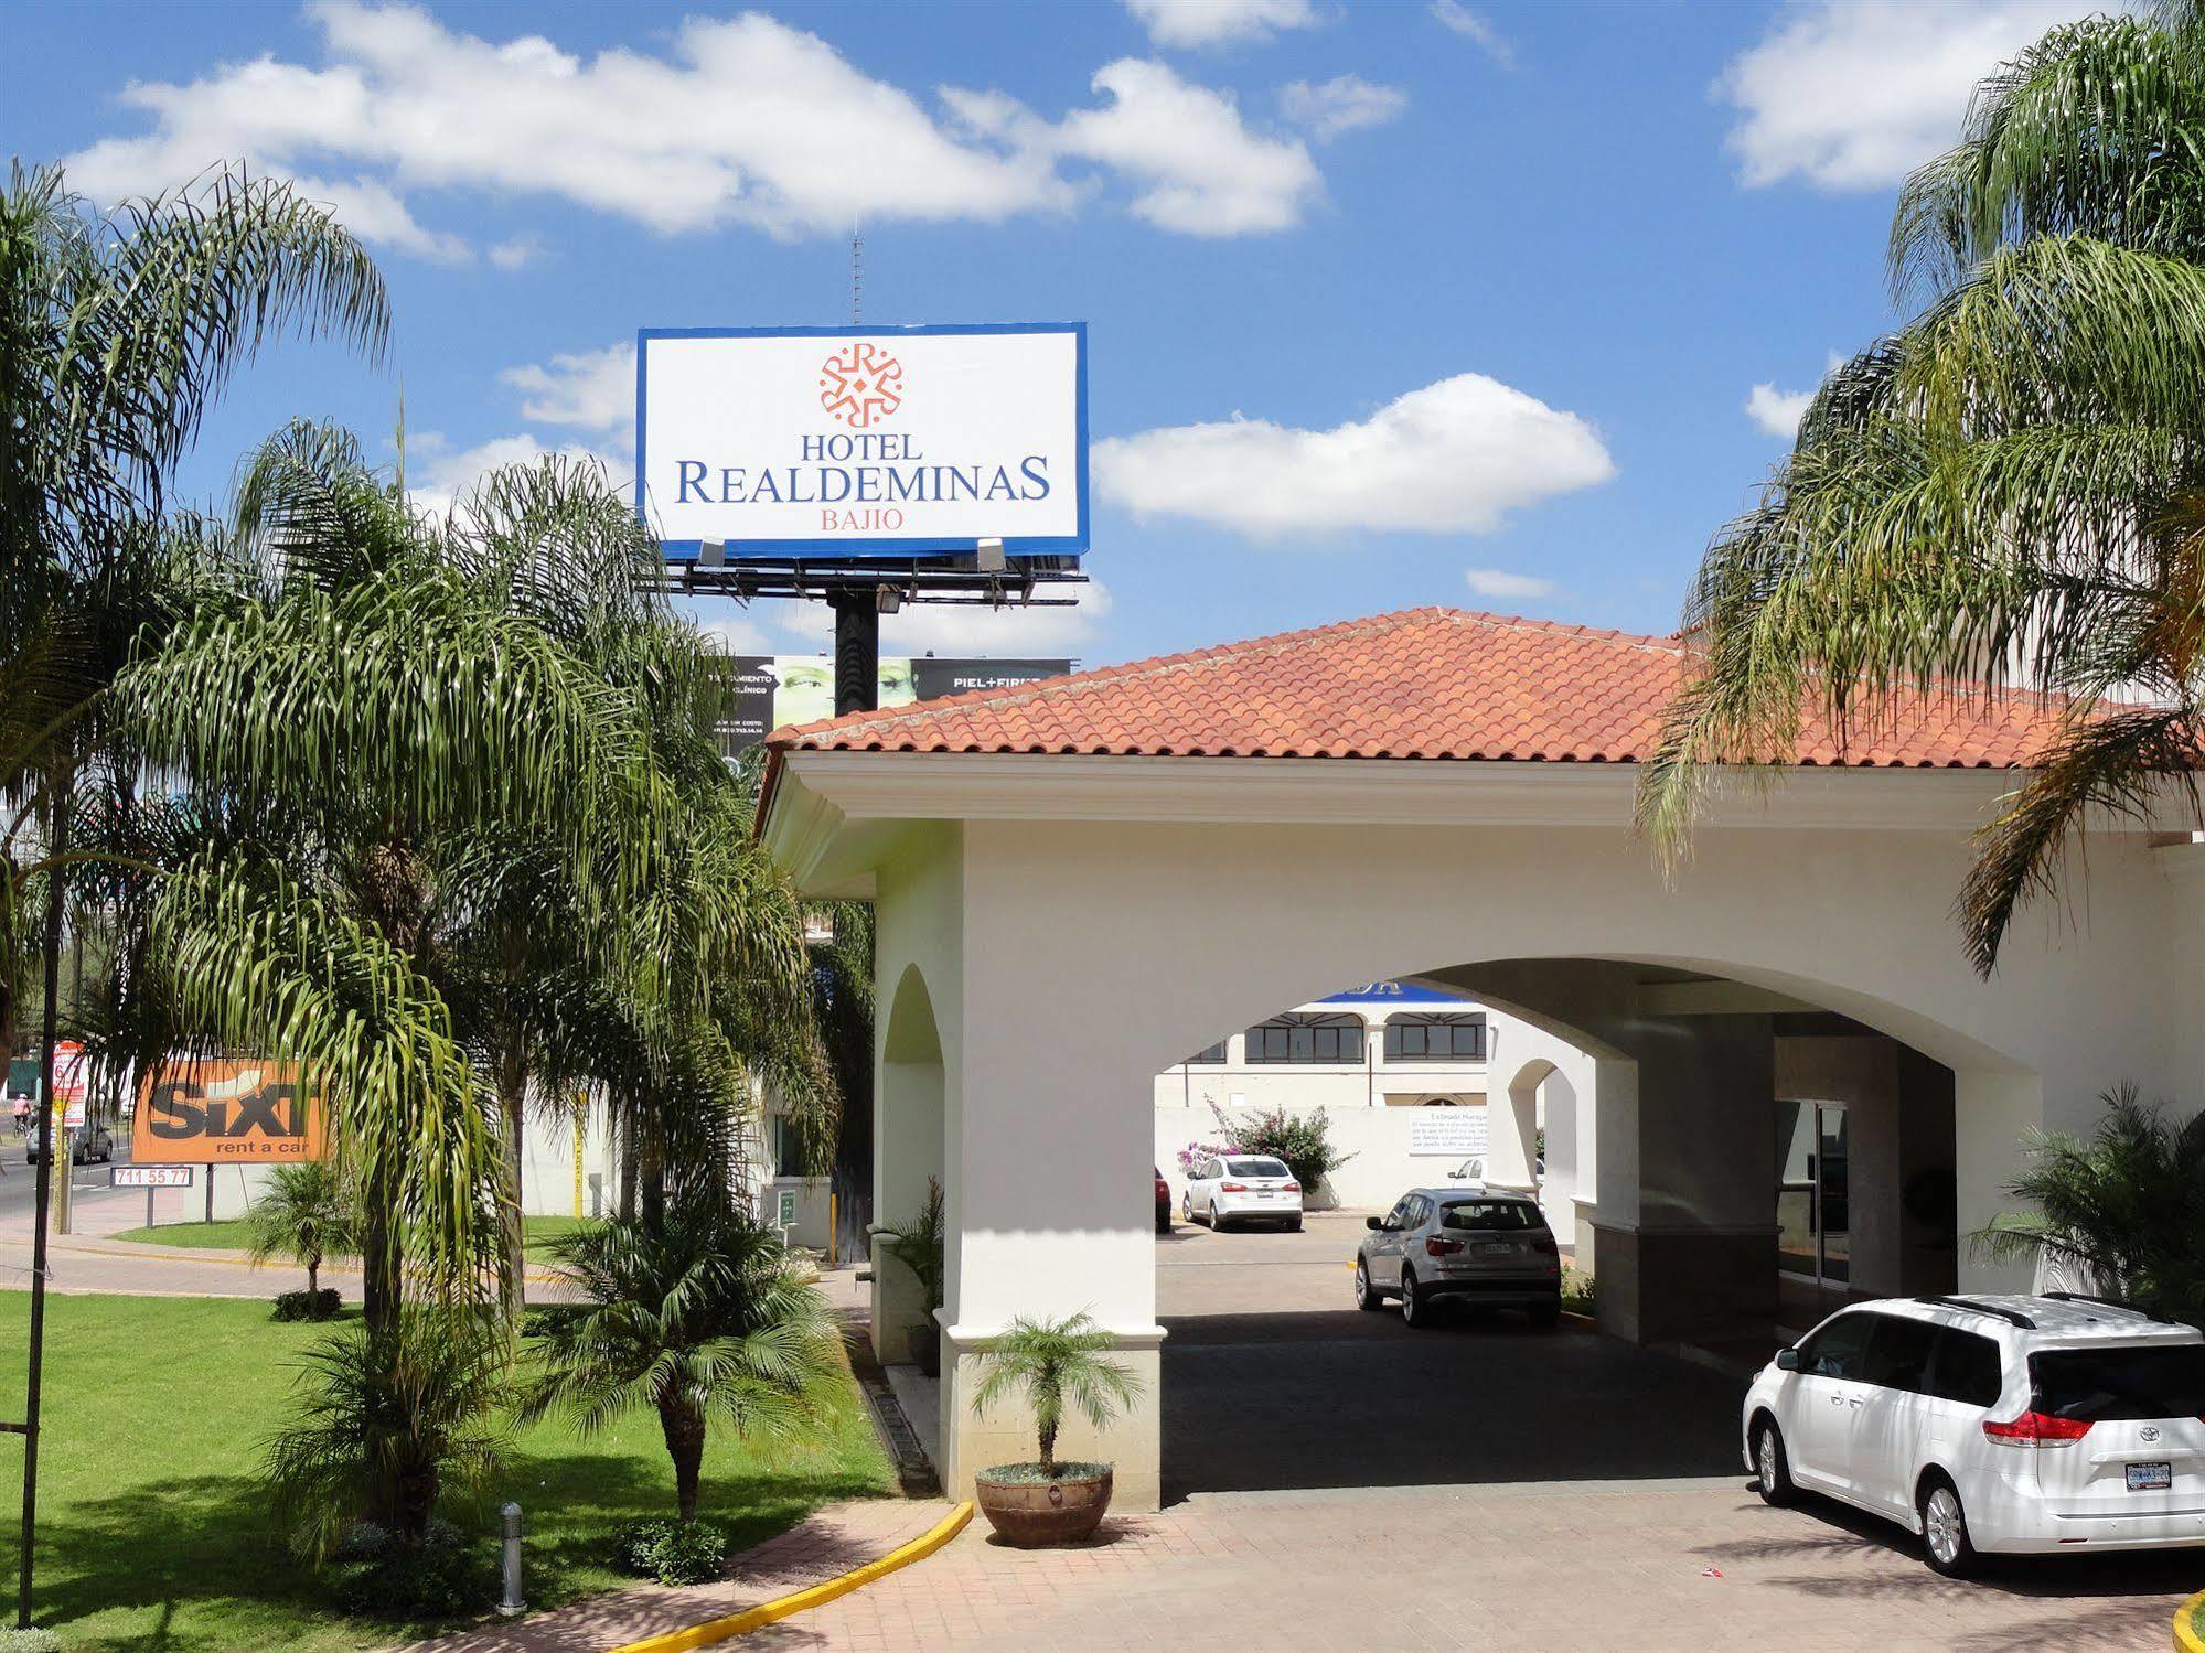
[[[1400,1318],[1427,1327],[1438,1298],[1524,1309],[1541,1331],[1561,1320],[1561,1252],[1524,1195],[1484,1188],[1411,1188],[1385,1217],[1365,1219],[1356,1247],[1356,1307],[1400,1298]]]

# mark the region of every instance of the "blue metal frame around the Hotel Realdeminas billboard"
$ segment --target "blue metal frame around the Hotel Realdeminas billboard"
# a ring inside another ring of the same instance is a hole
[[[1069,333],[1074,339],[1074,395],[1078,408],[1074,410],[1074,443],[1078,450],[1078,531],[1076,533],[1019,533],[1003,536],[994,544],[1001,547],[1005,555],[1017,558],[1047,558],[1052,562],[1078,560],[1087,553],[1089,542],[1089,500],[1087,500],[1087,324],[1085,322],[928,322],[919,326],[644,326],[635,331],[635,518],[648,529],[650,527],[650,498],[646,491],[650,478],[650,430],[644,412],[646,390],[650,381],[650,339],[878,339],[878,337],[988,337],[1003,333]],[[706,540],[659,540],[659,555],[675,566],[695,566],[703,560]],[[884,580],[895,584],[895,573],[902,564],[922,558],[939,558],[942,553],[966,553],[975,555],[979,551],[977,540],[944,540],[942,536],[902,536],[902,538],[878,538],[878,536],[847,536],[847,538],[816,538],[816,540],[725,540],[712,542],[719,555],[725,558],[730,571],[747,564],[756,553],[767,553],[765,566],[787,569],[789,562],[809,564],[814,569],[814,580],[825,582],[833,575],[833,584],[858,584],[867,575],[873,580]],[[961,569],[966,575],[964,586],[970,588],[970,566]],[[1063,575],[1032,571],[1036,580],[1056,580]],[[953,582],[944,582],[950,586]],[[1010,582],[1019,584],[1017,577]],[[809,586],[811,593],[825,591],[827,584]],[[761,591],[756,595],[805,595],[792,591]],[[931,599],[931,597],[922,597]]]

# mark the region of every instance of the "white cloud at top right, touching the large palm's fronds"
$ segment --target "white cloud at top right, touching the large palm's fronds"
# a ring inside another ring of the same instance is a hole
[[[1879,190],[1960,141],[2000,62],[2093,0],[1813,0],[1777,13],[1715,84],[1746,185]]]

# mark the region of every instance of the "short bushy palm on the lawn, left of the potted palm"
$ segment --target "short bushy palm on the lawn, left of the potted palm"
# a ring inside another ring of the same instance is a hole
[[[827,1298],[723,1186],[684,1192],[657,1219],[562,1236],[553,1250],[584,1303],[542,1311],[523,1415],[560,1411],[593,1435],[624,1413],[655,1411],[684,1521],[697,1514],[714,1424],[772,1450],[825,1439],[842,1378]]]

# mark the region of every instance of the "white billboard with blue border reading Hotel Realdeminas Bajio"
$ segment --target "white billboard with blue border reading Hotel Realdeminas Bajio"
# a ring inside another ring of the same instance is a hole
[[[644,328],[637,511],[670,562],[1087,549],[1087,326]]]

